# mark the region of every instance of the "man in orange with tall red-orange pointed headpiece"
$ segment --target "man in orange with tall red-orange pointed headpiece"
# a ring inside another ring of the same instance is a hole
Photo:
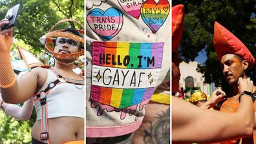
[[[232,87],[232,92],[228,94],[228,99],[222,103],[220,111],[236,112],[240,103],[240,96],[247,96],[253,99],[256,97],[256,86],[253,88],[240,89],[239,79],[251,81],[246,72],[255,65],[255,59],[248,48],[220,23],[215,22],[213,43],[217,52],[217,57],[222,67],[222,74],[228,85]],[[252,82],[251,82],[252,83]],[[256,111],[256,103],[253,103]],[[254,125],[256,128],[256,125]],[[256,133],[253,132],[254,143],[256,143]],[[253,143],[253,139],[242,139],[242,143]],[[222,143],[237,143],[237,140],[225,141]]]

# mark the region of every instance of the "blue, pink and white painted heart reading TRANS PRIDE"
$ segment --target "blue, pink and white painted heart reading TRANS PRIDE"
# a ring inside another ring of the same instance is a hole
[[[108,8],[105,12],[96,8],[87,14],[87,23],[103,41],[108,41],[122,29],[123,14],[117,8]]]

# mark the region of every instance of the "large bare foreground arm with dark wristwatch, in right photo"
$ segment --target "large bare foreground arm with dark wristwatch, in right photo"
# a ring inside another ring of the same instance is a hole
[[[239,78],[239,92],[251,92],[252,86],[250,79]],[[173,97],[172,122],[173,141],[215,142],[251,136],[254,124],[252,99],[240,96],[237,112],[226,113],[198,108]]]

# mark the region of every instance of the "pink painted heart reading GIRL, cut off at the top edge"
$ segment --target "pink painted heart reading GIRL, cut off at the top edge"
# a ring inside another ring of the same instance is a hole
[[[140,18],[140,7],[142,6],[143,0],[118,0],[118,3],[122,6],[123,10],[132,17]]]

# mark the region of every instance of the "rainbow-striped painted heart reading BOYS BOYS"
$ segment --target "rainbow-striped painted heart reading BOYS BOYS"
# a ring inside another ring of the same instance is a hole
[[[140,14],[144,23],[149,26],[153,34],[164,25],[170,11],[170,4],[167,0],[160,0],[156,4],[154,0],[147,0],[140,8]]]

